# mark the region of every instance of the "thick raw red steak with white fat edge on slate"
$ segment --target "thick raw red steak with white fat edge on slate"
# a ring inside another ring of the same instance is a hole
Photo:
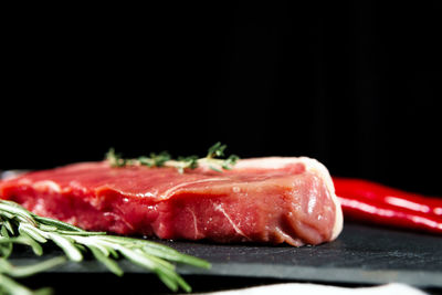
[[[0,198],[86,230],[301,246],[336,239],[343,213],[309,158],[239,160],[232,170],[82,162],[0,182]]]

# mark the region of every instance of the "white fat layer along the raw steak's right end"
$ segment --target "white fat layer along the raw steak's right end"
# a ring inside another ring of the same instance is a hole
[[[333,185],[333,179],[328,169],[316,159],[308,157],[265,157],[265,158],[250,158],[242,159],[236,162],[234,169],[246,169],[246,168],[257,168],[257,169],[281,169],[287,165],[293,165],[296,162],[302,162],[305,165],[306,170],[314,172],[319,178],[325,181],[328,192],[332,196],[332,200],[335,203],[335,224],[332,232],[332,240],[335,240],[343,230],[344,217],[340,203],[335,193],[335,186]]]

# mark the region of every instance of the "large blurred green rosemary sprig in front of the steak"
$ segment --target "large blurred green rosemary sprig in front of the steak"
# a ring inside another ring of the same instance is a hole
[[[210,267],[210,263],[204,260],[182,254],[159,243],[108,235],[105,232],[84,231],[57,220],[39,217],[14,202],[0,200],[0,289],[1,287],[17,292],[25,289],[6,276],[17,276],[18,274],[17,270],[11,272],[12,267],[7,262],[12,253],[13,244],[27,244],[36,255],[42,255],[42,244],[49,241],[57,245],[69,260],[80,262],[84,259],[85,253],[91,253],[110,272],[119,276],[123,275],[123,270],[117,261],[125,257],[134,264],[156,273],[162,283],[175,292],[179,288],[190,292],[191,287],[177,274],[172,263]],[[28,266],[29,268],[19,273],[31,275],[60,263],[60,259],[46,261],[41,265]]]

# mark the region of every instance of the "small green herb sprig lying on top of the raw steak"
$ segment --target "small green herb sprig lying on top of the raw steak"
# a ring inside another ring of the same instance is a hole
[[[135,159],[125,159],[120,154],[116,154],[115,149],[110,148],[106,154],[106,160],[112,167],[126,167],[126,166],[147,166],[147,167],[172,167],[180,173],[186,169],[196,169],[201,165],[208,165],[212,170],[221,172],[222,169],[229,170],[239,160],[239,157],[231,155],[223,159],[227,146],[217,143],[211,146],[204,158],[198,156],[178,157],[172,159],[169,152],[161,151],[159,154],[150,152],[149,156],[141,156]]]

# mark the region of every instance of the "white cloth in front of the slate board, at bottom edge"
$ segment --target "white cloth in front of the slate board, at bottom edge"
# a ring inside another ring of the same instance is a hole
[[[249,288],[199,293],[208,295],[424,295],[419,288],[399,283],[370,287],[338,287],[307,283],[284,283]]]

